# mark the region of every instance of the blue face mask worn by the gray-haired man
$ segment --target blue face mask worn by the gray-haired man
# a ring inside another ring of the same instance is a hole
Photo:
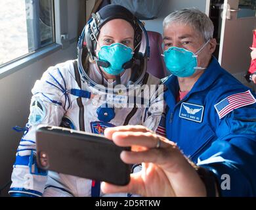
[[[190,77],[196,70],[205,70],[205,68],[198,67],[197,56],[209,41],[207,41],[196,53],[184,48],[170,47],[163,53],[166,68],[171,74],[176,75],[177,77]]]

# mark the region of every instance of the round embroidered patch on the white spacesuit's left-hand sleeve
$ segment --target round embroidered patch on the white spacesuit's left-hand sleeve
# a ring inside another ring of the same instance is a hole
[[[30,105],[30,116],[28,117],[28,123],[30,125],[38,125],[46,117],[46,108],[43,101],[39,98],[33,98]]]

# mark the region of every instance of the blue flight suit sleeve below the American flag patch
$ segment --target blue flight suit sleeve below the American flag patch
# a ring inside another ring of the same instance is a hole
[[[215,173],[221,196],[256,196],[256,106],[233,110],[216,133],[198,165]]]

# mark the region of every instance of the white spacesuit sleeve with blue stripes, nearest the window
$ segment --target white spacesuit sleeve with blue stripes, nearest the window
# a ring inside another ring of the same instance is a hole
[[[37,125],[60,125],[70,98],[64,94],[67,81],[63,71],[50,68],[32,89],[30,116],[20,140],[13,165],[9,194],[42,196],[47,182],[47,171],[37,168],[35,160],[35,129]],[[63,89],[63,90],[62,90]]]

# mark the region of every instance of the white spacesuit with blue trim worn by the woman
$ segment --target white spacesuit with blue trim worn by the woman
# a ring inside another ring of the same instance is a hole
[[[119,7],[113,8],[116,15]],[[123,12],[119,15],[122,18]],[[83,36],[79,39],[80,50],[84,39]],[[109,196],[100,192],[100,183],[94,180],[39,169],[35,159],[37,125],[56,125],[100,135],[106,127],[144,125],[164,135],[163,120],[160,121],[164,110],[163,85],[160,79],[145,73],[146,64],[140,65],[144,67],[140,68],[137,82],[131,78],[139,70],[125,68],[118,79],[119,91],[111,92],[117,89],[116,81],[106,81],[92,60],[87,60],[88,68],[84,70],[81,54],[79,51],[78,60],[49,68],[32,89],[30,116],[12,171],[11,196]],[[102,85],[98,86],[100,83]]]

